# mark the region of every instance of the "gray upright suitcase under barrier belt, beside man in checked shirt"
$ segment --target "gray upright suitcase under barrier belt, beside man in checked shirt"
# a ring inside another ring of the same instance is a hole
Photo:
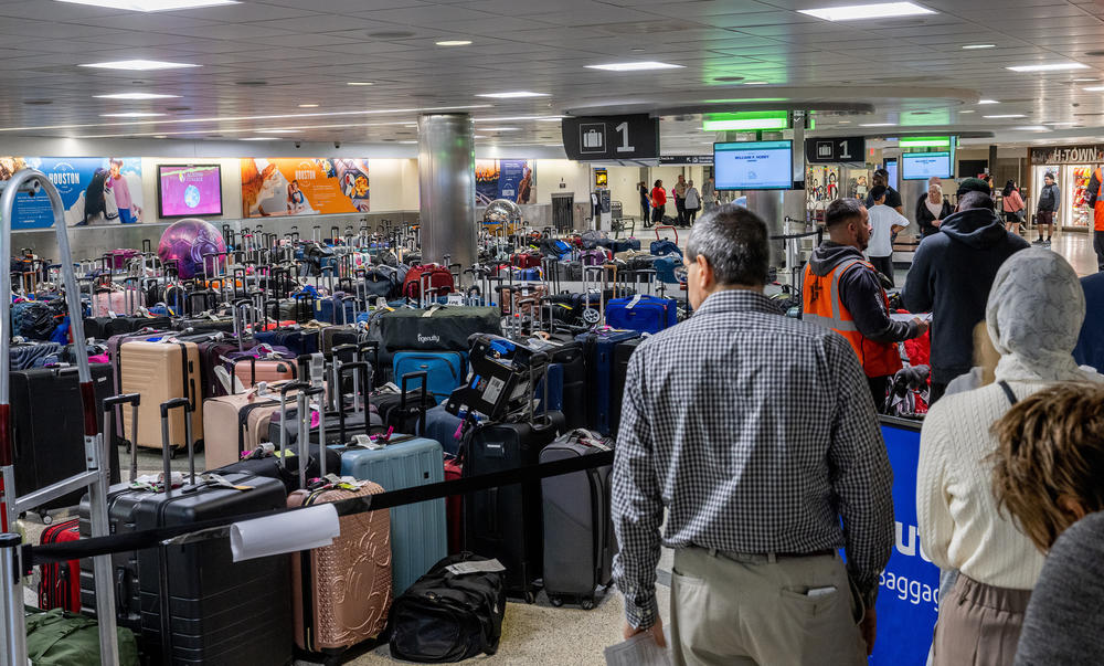
[[[614,441],[585,430],[558,437],[540,454],[541,464],[613,448]],[[541,480],[544,510],[544,591],[552,605],[594,607],[599,588],[613,578],[617,552],[609,519],[609,465]]]

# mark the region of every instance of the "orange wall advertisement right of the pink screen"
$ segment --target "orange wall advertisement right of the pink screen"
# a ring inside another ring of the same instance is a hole
[[[367,159],[243,158],[242,216],[370,210]]]

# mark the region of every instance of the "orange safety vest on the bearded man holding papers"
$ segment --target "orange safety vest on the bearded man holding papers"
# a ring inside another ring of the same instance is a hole
[[[825,328],[830,328],[847,338],[859,356],[859,362],[867,377],[885,377],[901,369],[901,352],[892,342],[874,342],[862,337],[854,324],[851,313],[839,298],[839,281],[843,274],[856,266],[874,267],[869,262],[859,258],[846,261],[831,269],[828,275],[817,275],[809,264],[805,265],[805,286],[803,287],[805,307],[802,319]],[[885,289],[880,289],[889,311],[890,299]]]

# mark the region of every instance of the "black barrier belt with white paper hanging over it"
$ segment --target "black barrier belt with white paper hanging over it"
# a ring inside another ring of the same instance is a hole
[[[402,490],[391,490],[390,493],[380,493],[379,495],[353,497],[351,499],[335,501],[333,506],[337,509],[338,516],[352,516],[367,511],[390,509],[408,504],[416,504],[429,499],[439,499],[450,495],[465,495],[477,490],[497,488],[499,486],[533,483],[551,476],[560,476],[563,474],[571,474],[573,472],[583,472],[585,469],[612,465],[613,462],[614,452],[603,451],[601,453],[580,456],[577,458],[567,458],[541,465],[527,465],[523,467],[516,467],[513,469],[505,469],[502,472],[480,474],[479,476],[471,476],[468,478],[427,484],[425,486],[404,488]],[[309,507],[295,507],[275,511],[246,514],[227,518],[202,520],[189,525],[141,530],[126,535],[96,537],[94,539],[79,539],[77,541],[60,541],[43,546],[25,545],[23,546],[23,565],[29,570],[32,565],[36,564],[52,564],[102,554],[153,548],[166,540],[203,531],[210,531],[211,533],[209,535],[209,538],[212,539],[224,538],[226,536],[225,532],[214,530],[217,530],[217,528],[229,527],[234,522],[242,522],[254,518],[268,518],[289,511],[300,511],[306,508]]]

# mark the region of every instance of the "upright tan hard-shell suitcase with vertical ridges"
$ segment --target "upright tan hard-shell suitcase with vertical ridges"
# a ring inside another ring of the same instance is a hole
[[[203,382],[200,350],[194,342],[136,340],[119,347],[119,392],[140,393],[138,408],[139,446],[161,448],[162,402],[188,398],[192,404],[192,438],[203,438]],[[176,451],[185,445],[184,412],[169,417],[169,442]],[[123,411],[123,432],[130,432],[130,412]]]

